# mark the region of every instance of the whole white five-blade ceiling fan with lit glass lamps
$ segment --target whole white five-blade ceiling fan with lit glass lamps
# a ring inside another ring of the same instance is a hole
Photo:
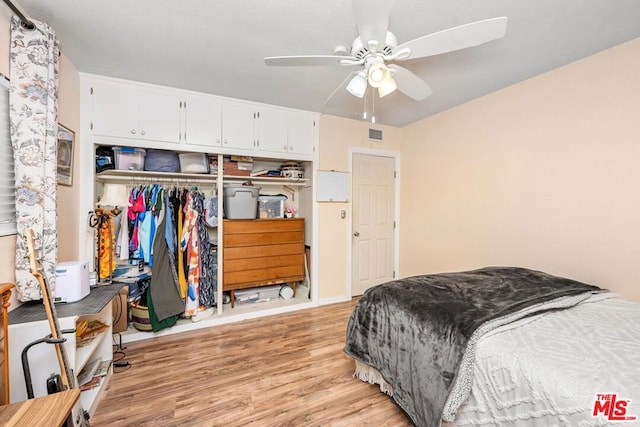
[[[388,30],[391,0],[353,0],[358,37],[346,48],[338,46],[333,55],[271,56],[267,65],[315,66],[342,65],[358,67],[327,98],[346,85],[349,93],[364,97],[370,86],[382,98],[396,89],[421,101],[431,95],[431,88],[418,76],[396,62],[424,58],[477,46],[503,37],[507,18],[497,17],[460,25],[398,44]]]

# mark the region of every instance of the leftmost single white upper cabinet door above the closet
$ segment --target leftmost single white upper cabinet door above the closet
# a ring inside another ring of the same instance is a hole
[[[91,129],[94,135],[138,137],[138,94],[131,88],[96,82],[91,86]]]

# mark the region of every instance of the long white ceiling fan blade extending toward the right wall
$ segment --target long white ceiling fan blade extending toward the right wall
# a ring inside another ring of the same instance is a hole
[[[397,46],[393,49],[393,53],[409,48],[411,55],[406,59],[423,58],[477,46],[499,39],[506,32],[506,16],[490,18],[413,39]]]

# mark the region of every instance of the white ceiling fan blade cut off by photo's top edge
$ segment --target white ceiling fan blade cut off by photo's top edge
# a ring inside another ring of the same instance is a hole
[[[368,42],[378,42],[378,50],[382,50],[389,27],[389,11],[391,0],[353,0],[353,11],[356,26],[362,44],[368,48]]]

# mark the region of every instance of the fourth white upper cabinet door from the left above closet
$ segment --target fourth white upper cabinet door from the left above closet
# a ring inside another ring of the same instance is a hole
[[[255,109],[249,105],[222,106],[222,146],[239,150],[255,150]]]

